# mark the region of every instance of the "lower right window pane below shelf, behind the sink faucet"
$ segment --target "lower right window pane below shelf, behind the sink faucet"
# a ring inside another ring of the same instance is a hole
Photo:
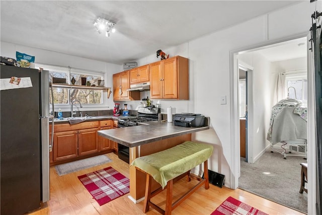
[[[78,100],[82,104],[102,104],[101,90],[70,89],[70,102]]]

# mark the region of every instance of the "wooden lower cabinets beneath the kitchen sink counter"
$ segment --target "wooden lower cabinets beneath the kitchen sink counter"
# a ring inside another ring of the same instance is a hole
[[[82,122],[74,125],[55,124],[52,152],[49,153],[50,165],[113,152],[114,141],[100,136],[97,132],[112,127],[113,120]],[[51,125],[49,131],[51,131]],[[49,136],[51,138],[51,132]]]

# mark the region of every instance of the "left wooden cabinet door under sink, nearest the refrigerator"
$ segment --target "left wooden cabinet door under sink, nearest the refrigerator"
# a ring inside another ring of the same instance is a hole
[[[54,133],[53,161],[77,157],[77,131]]]

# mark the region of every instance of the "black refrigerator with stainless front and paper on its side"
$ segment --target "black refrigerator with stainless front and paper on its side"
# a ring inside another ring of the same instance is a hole
[[[1,65],[0,78],[1,214],[23,214],[49,200],[49,74]]]

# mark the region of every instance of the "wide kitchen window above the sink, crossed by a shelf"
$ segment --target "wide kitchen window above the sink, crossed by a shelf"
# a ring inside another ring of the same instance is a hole
[[[52,78],[66,79],[66,84],[71,84],[71,79],[75,79],[75,85],[81,85],[81,78],[87,78],[87,82],[90,85],[98,85],[98,80],[104,80],[104,73],[93,71],[82,71],[65,67],[48,66],[36,64],[36,68],[42,67],[45,70],[49,70],[49,82],[52,82]],[[50,101],[51,101],[51,94]],[[89,106],[102,106],[103,90],[91,90],[91,89],[66,89],[66,88],[53,88],[54,104],[59,107],[69,106],[72,101],[78,100],[82,105],[88,104]],[[89,107],[88,106],[88,107]]]

